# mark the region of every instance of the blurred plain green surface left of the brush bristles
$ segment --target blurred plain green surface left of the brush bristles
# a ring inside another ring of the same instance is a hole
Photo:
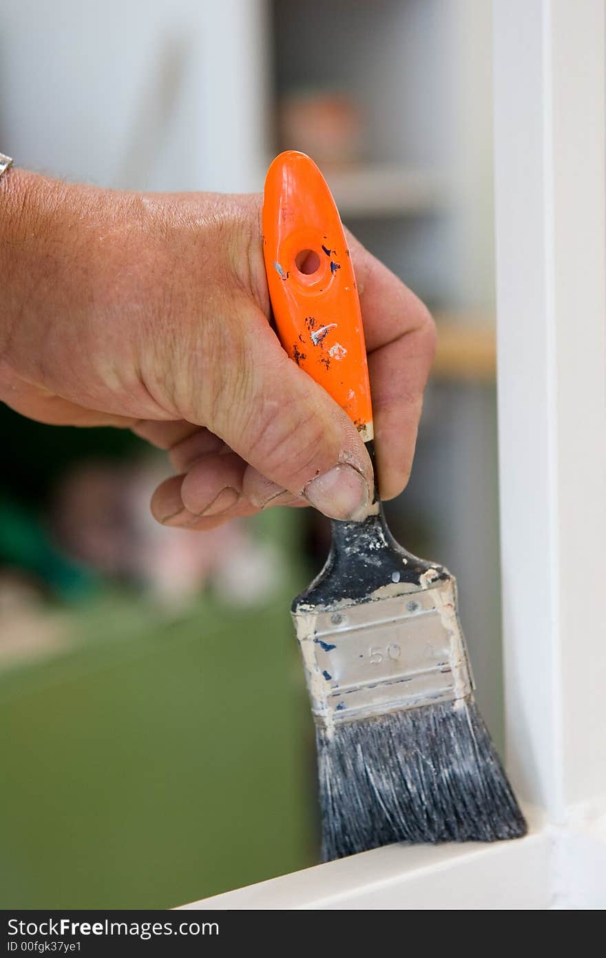
[[[285,608],[158,622],[107,596],[3,674],[3,907],[168,907],[314,862]]]

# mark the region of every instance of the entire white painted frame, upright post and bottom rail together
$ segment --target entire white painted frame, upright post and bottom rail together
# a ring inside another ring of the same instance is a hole
[[[530,833],[391,846],[189,908],[606,906],[604,13],[494,3],[506,756]]]

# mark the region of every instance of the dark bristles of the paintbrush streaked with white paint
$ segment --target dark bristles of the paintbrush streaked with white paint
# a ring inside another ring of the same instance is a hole
[[[317,729],[325,861],[392,842],[519,838],[527,824],[482,716],[444,702]]]

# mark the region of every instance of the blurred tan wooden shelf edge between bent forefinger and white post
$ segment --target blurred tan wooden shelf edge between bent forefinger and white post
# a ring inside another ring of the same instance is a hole
[[[438,313],[438,350],[432,370],[435,379],[494,382],[497,341],[491,316]]]

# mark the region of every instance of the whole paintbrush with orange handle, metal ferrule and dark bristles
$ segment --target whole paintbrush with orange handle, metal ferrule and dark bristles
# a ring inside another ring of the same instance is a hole
[[[268,171],[263,251],[283,348],[348,412],[374,464],[347,239],[303,153],[282,153]],[[331,527],[325,567],[292,605],[316,722],[325,860],[396,841],[525,834],[474,702],[455,579],[398,545],[376,491],[362,521]]]

